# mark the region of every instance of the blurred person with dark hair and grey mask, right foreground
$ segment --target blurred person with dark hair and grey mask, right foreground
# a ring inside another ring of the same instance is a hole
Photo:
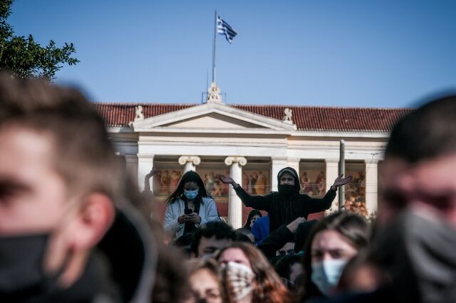
[[[400,301],[456,301],[456,95],[395,125],[373,250]],[[404,302],[405,302],[404,301]]]

